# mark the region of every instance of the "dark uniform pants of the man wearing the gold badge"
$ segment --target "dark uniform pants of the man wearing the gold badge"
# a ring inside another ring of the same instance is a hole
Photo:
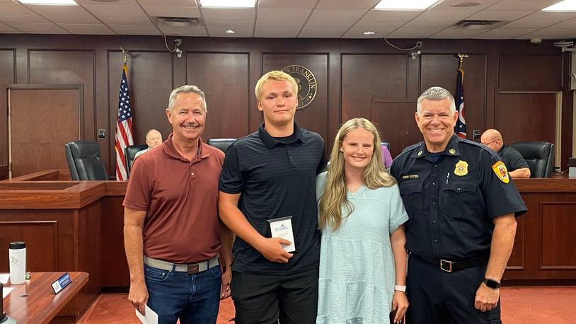
[[[411,255],[408,261],[406,294],[410,306],[407,324],[502,323],[500,301],[491,311],[474,308],[476,290],[484,279],[486,266],[444,272]]]

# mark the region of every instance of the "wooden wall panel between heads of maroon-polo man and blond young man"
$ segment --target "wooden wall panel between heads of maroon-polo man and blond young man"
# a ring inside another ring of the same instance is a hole
[[[250,134],[248,64],[248,53],[186,54],[186,79],[206,96],[204,141]]]

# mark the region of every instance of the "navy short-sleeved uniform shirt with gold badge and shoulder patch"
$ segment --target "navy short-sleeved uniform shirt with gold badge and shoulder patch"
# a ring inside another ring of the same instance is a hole
[[[408,146],[392,163],[408,212],[406,249],[468,260],[490,253],[497,216],[524,214],[522,197],[494,151],[453,135],[446,150]]]

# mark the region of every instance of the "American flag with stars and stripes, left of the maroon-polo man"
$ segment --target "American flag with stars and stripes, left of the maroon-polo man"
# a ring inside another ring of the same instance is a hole
[[[122,81],[120,81],[120,93],[118,94],[118,122],[116,125],[116,180],[128,180],[126,173],[126,161],[124,149],[134,144],[132,139],[132,110],[130,110],[130,96],[128,95],[128,80],[126,74],[128,66],[124,64]]]

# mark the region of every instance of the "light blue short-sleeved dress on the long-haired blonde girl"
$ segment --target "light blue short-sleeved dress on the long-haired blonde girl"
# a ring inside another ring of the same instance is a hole
[[[326,172],[316,178],[318,199],[325,181]],[[389,323],[396,284],[390,234],[408,214],[398,185],[362,185],[347,198],[354,212],[335,232],[322,228],[316,323]]]

